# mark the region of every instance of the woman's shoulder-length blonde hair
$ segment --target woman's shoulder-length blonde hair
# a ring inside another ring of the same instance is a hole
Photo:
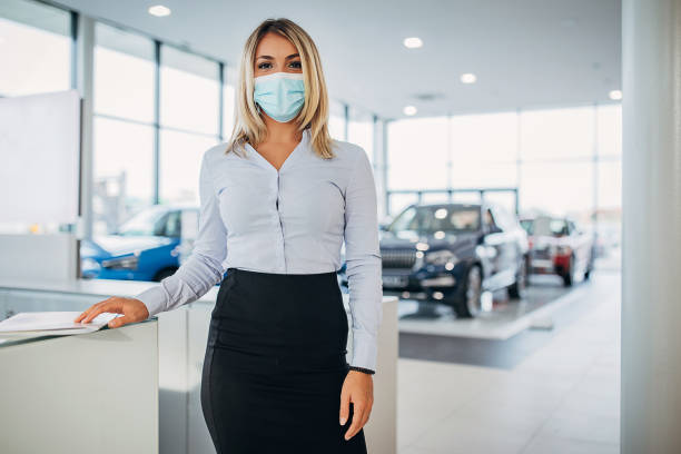
[[[267,127],[260,109],[253,100],[256,48],[268,32],[275,32],[288,39],[298,50],[305,81],[305,102],[294,118],[297,130],[309,129],[310,144],[315,152],[325,159],[333,158],[333,140],[328,132],[328,93],[322,70],[319,52],[313,39],[297,23],[288,19],[267,19],[250,33],[244,46],[239,76],[235,96],[235,121],[225,154],[235,151],[246,144],[255,146],[267,137]]]

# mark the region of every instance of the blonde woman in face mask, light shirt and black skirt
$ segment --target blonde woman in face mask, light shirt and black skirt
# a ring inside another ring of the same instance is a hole
[[[198,299],[226,269],[201,379],[218,453],[366,453],[383,314],[376,190],[366,152],[332,140],[327,119],[313,40],[289,20],[264,21],[244,49],[231,138],[203,157],[191,256],[159,286],[76,319],[144,320]]]

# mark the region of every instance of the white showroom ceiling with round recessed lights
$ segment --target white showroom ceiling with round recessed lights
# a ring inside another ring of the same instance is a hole
[[[620,0],[60,0],[228,63],[263,19],[315,39],[334,98],[384,118],[610,102],[621,87]],[[147,13],[165,4],[172,14]],[[406,49],[420,37],[421,49]],[[477,82],[463,85],[462,72]],[[423,100],[421,95],[435,96]]]

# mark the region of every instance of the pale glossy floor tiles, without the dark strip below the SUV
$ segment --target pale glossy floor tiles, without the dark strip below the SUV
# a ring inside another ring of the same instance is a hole
[[[512,368],[401,358],[398,453],[618,453],[620,276],[573,298]]]

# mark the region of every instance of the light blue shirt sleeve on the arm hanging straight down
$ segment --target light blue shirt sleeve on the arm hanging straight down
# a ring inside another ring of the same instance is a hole
[[[377,196],[372,165],[366,151],[359,151],[345,193],[345,260],[353,319],[351,366],[375,371],[383,318]]]

